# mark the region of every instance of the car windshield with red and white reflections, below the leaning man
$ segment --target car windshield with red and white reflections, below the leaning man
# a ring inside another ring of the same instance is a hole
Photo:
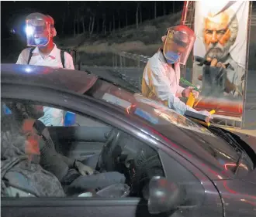
[[[86,94],[122,109],[125,118],[139,124],[140,131],[178,151],[202,168],[212,180],[233,177],[225,166],[237,162],[237,151],[206,127],[141,93],[129,93],[106,81],[98,80],[92,91]]]

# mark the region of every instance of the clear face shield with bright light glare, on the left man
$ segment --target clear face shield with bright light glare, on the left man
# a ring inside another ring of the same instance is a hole
[[[27,46],[47,46],[50,41],[51,24],[44,15],[30,15],[26,19]]]

